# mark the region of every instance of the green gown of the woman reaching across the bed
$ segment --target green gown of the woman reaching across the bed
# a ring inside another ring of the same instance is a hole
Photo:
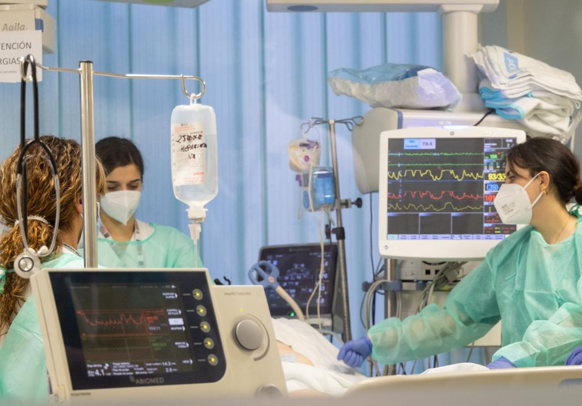
[[[514,365],[563,365],[582,345],[582,222],[558,244],[532,226],[492,248],[450,292],[443,308],[428,305],[404,320],[368,331],[372,357],[384,364],[467,346],[502,320],[502,348]]]

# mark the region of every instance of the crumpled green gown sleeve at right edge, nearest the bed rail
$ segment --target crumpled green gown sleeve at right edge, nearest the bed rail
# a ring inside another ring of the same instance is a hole
[[[564,365],[570,352],[582,345],[582,278],[577,291],[578,303],[565,303],[548,320],[532,322],[521,341],[495,352],[493,360],[505,357],[522,367]]]

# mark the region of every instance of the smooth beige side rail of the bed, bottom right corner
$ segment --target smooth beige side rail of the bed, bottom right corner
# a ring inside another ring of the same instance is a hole
[[[580,405],[582,366],[375,377],[353,386],[345,396],[352,400],[361,397],[447,406]]]

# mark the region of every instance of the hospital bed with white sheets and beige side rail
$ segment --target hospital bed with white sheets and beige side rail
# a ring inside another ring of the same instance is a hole
[[[410,400],[411,394],[448,398],[452,393],[478,393],[501,391],[514,396],[524,393],[578,393],[582,400],[582,366],[550,366],[537,368],[499,369],[490,371],[475,364],[434,368],[420,375],[394,375],[366,378],[343,363],[335,361],[337,350],[316,329],[299,320],[273,320],[278,340],[313,359],[314,368],[293,365],[283,359],[283,371],[288,390],[311,389],[326,394],[347,397],[372,396],[390,400]],[[294,331],[294,336],[291,331]],[[318,337],[319,336],[319,337]],[[476,371],[476,368],[483,371]],[[464,369],[464,371],[463,371]],[[297,373],[303,373],[301,382],[296,382]],[[448,372],[456,371],[456,372]],[[343,386],[343,390],[342,390]],[[466,398],[460,396],[466,405]],[[434,399],[433,399],[434,400]],[[535,399],[534,399],[535,401]],[[535,404],[535,403],[534,403]],[[449,403],[448,403],[449,405]]]

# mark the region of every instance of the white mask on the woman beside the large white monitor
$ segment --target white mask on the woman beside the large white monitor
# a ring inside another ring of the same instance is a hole
[[[531,222],[531,209],[542,197],[540,192],[533,202],[527,194],[526,188],[538,177],[539,173],[531,178],[526,186],[519,184],[502,184],[495,196],[493,204],[499,213],[499,218],[504,224],[529,224]]]

